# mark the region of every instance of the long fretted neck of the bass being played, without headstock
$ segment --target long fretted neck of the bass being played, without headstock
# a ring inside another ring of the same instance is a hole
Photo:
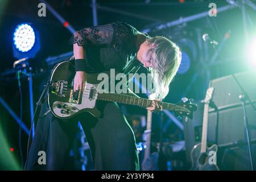
[[[141,107],[150,107],[152,106],[152,100],[148,100],[146,98],[139,98],[135,96],[129,96],[125,94],[118,94],[118,93],[98,93],[97,100],[101,101],[111,101],[111,102],[118,102],[121,104],[128,104],[128,105],[136,105]],[[167,102],[160,102],[163,106],[163,109],[175,111],[175,110],[184,110],[183,107],[175,104],[169,104]]]

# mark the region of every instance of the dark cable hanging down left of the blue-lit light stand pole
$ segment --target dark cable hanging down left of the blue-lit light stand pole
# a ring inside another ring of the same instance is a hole
[[[19,151],[20,151],[20,158],[21,158],[21,167],[23,167],[23,152],[22,152],[22,145],[21,145],[21,123],[22,123],[22,89],[21,89],[21,84],[20,84],[20,75],[19,71],[16,72],[16,77],[18,80],[18,85],[19,85],[19,96],[20,96],[20,122],[19,122]]]

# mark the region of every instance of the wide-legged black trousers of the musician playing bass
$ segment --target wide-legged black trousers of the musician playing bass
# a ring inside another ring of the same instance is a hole
[[[24,170],[65,170],[67,157],[80,121],[88,140],[96,170],[139,170],[139,160],[133,130],[118,105],[98,101],[101,117],[89,113],[77,118],[59,119],[47,114],[38,119],[35,136]],[[42,104],[40,115],[48,110]],[[46,152],[46,164],[39,164],[39,151]]]

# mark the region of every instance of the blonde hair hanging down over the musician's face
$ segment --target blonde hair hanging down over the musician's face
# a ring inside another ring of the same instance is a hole
[[[181,62],[180,48],[171,40],[163,36],[155,36],[147,39],[148,49],[147,55],[152,55],[156,63],[156,67],[150,68],[153,75],[152,93],[155,98],[163,99],[169,92],[169,85],[177,73]]]

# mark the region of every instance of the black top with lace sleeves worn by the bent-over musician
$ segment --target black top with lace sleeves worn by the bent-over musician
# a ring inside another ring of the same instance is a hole
[[[85,49],[87,72],[98,73],[114,68],[118,72],[137,71],[137,30],[125,22],[92,26],[75,32],[69,43]]]

